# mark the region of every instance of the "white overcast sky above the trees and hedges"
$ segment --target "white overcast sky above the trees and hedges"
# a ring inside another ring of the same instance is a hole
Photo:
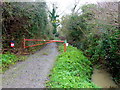
[[[97,3],[97,2],[106,2],[106,1],[120,1],[120,0],[45,0],[48,7],[52,6],[52,3],[55,3],[58,7],[58,14],[69,14],[71,9],[74,7],[74,2],[79,1],[79,7],[87,3]]]

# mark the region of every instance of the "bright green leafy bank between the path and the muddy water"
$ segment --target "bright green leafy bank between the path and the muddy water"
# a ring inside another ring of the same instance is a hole
[[[92,74],[91,62],[82,51],[68,46],[63,52],[63,45],[59,47],[61,54],[52,69],[50,80],[46,86],[50,88],[98,88],[90,78]]]

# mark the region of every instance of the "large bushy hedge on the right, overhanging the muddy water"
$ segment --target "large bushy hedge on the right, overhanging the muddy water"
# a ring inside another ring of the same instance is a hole
[[[82,13],[63,17],[61,35],[84,51],[94,64],[105,64],[120,81],[120,30],[118,2],[84,5]]]

